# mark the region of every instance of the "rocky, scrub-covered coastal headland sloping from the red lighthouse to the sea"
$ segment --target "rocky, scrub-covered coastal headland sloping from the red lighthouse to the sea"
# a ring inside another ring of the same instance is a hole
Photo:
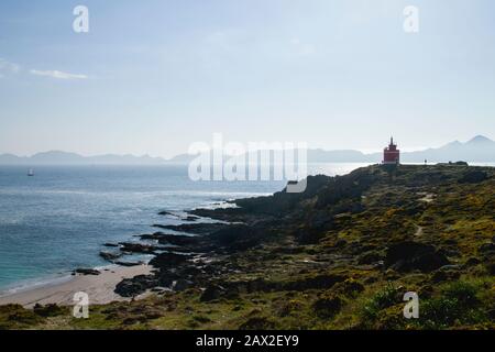
[[[154,272],[116,293],[147,298],[91,306],[89,319],[3,306],[0,329],[494,329],[494,176],[374,165],[310,176],[301,194],[197,209],[120,244],[153,254]],[[418,319],[403,316],[408,292]]]

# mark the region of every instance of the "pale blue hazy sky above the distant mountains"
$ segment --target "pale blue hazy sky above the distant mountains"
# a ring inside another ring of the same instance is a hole
[[[495,2],[0,2],[0,153],[172,156],[213,132],[364,151],[493,139]]]

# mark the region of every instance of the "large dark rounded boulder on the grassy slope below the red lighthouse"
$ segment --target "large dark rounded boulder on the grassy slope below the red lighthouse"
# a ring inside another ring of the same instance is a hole
[[[385,265],[397,272],[418,270],[428,273],[448,264],[449,260],[435,246],[418,242],[393,244],[385,257]]]

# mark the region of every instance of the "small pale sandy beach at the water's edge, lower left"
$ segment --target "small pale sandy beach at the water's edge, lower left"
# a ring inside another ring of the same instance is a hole
[[[101,271],[100,275],[75,275],[63,283],[52,284],[43,287],[25,289],[11,295],[0,297],[0,306],[19,304],[26,308],[35,304],[57,304],[61,306],[74,305],[74,294],[84,292],[89,296],[90,305],[102,305],[116,300],[127,300],[113,289],[124,278],[150,274],[152,266],[139,265],[131,267],[114,266]]]

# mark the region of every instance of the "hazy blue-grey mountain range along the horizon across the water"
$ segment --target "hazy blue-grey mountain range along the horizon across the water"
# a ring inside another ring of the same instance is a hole
[[[400,145],[399,145],[400,147]],[[52,151],[37,153],[33,156],[16,156],[13,154],[0,154],[0,165],[163,165],[187,164],[195,155],[180,154],[170,160],[152,157],[148,155],[98,155],[82,156],[75,153]],[[403,163],[430,163],[465,161],[471,163],[495,163],[495,142],[483,135],[462,143],[459,141],[446,144],[438,148],[428,148],[417,152],[403,152]],[[360,151],[324,151],[309,150],[309,163],[380,163],[382,153],[364,154]]]

